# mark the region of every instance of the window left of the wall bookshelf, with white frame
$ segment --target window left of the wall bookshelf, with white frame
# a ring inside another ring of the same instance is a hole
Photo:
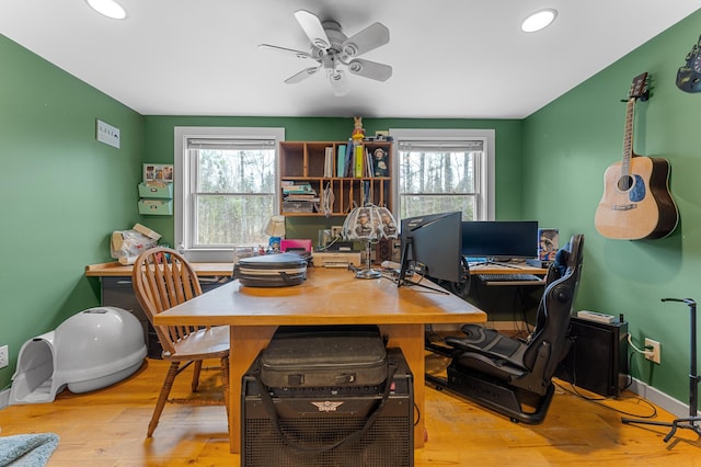
[[[266,244],[279,212],[283,128],[175,128],[175,243],[191,261],[230,261],[234,244]]]

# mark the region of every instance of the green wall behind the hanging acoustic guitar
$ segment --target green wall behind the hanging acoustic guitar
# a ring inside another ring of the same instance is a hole
[[[524,121],[524,214],[559,227],[561,239],[586,236],[578,309],[624,314],[633,342],[662,343],[662,365],[632,358],[633,375],[688,401],[689,309],[663,297],[698,295],[701,270],[701,94],[675,86],[677,69],[701,33],[701,12]],[[635,111],[634,150],[671,164],[670,191],[680,213],[673,235],[659,240],[611,240],[595,229],[604,172],[620,161],[625,103],[633,78],[652,75],[652,95]]]

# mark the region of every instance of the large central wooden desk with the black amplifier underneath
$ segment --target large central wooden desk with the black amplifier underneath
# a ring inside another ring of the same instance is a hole
[[[402,349],[414,375],[414,401],[421,413],[414,446],[423,446],[424,324],[484,322],[486,314],[455,295],[397,287],[387,278],[357,280],[347,270],[310,267],[307,276],[303,284],[275,288],[245,287],[233,281],[154,319],[156,324],[231,327],[231,452],[240,452],[241,377],[277,327],[286,324],[379,324],[390,338],[389,346]]]

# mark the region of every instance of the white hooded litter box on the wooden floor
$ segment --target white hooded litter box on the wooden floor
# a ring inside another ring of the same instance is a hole
[[[139,369],[145,356],[134,315],[116,307],[87,309],[22,345],[10,405],[51,402],[65,387],[88,392],[110,386]]]

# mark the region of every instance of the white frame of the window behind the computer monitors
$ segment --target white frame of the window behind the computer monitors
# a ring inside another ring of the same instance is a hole
[[[392,145],[392,197],[394,203],[394,216],[399,219],[401,213],[401,198],[399,196],[399,147],[402,140],[413,141],[464,141],[464,140],[482,140],[484,144],[484,164],[480,167],[479,191],[482,196],[478,197],[476,218],[475,220],[494,220],[495,216],[495,130],[494,129],[427,129],[427,128],[390,128],[389,134],[393,138]]]

